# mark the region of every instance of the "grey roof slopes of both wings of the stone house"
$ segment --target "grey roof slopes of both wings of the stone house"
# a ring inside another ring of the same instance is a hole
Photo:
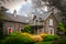
[[[50,13],[44,13],[44,14],[36,14],[38,18],[42,18],[42,20],[46,20],[50,15],[51,15],[51,12]],[[9,21],[15,21],[15,22],[23,22],[23,23],[31,23],[33,22],[31,18],[26,18],[26,16],[21,16],[21,15],[18,15],[14,16],[13,14],[11,13],[7,13],[4,14],[4,20],[9,20]],[[29,20],[29,22],[26,22],[26,20]]]

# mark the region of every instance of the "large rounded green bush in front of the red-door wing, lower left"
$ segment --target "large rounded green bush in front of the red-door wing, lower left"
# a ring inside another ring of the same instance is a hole
[[[2,40],[2,44],[29,44],[31,42],[33,42],[31,37],[19,33],[12,33]]]

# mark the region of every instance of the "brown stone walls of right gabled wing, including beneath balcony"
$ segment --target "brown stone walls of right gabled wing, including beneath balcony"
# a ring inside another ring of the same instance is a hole
[[[53,26],[50,25],[50,19],[53,19]],[[44,21],[44,26],[42,29],[38,29],[37,31],[35,31],[37,34],[41,33],[48,33],[51,34],[51,29],[52,29],[52,35],[54,35],[56,33],[56,29],[57,29],[57,21],[54,18],[53,14],[51,14],[45,21]],[[35,33],[34,32],[34,33]]]

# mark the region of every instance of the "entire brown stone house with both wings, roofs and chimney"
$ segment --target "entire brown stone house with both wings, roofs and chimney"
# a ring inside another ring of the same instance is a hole
[[[51,35],[56,34],[57,20],[52,12],[46,14],[37,14],[36,19],[16,15],[16,11],[13,14],[7,13],[3,16],[3,21],[0,22],[3,29],[3,34],[9,34],[14,31],[23,30],[23,26],[30,24],[34,29],[34,34],[48,33]],[[40,20],[40,22],[37,22]]]

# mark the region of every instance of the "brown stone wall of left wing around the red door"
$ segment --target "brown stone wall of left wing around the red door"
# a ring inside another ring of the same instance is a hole
[[[24,25],[16,22],[3,22],[3,34],[8,34],[8,28],[12,28],[12,31],[20,31]]]

